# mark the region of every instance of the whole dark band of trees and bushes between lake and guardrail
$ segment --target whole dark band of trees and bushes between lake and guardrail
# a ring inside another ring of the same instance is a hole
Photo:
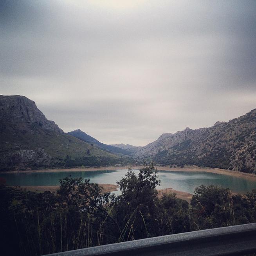
[[[153,236],[256,222],[256,190],[200,186],[191,204],[174,193],[157,197],[153,165],[118,182],[121,195],[102,193],[82,178],[60,180],[57,193],[0,186],[1,252],[40,255]]]

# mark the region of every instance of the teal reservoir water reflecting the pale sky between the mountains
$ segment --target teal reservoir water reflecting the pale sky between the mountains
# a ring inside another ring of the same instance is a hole
[[[137,174],[139,171],[134,170]],[[64,177],[90,178],[99,184],[116,184],[126,174],[127,169],[107,171],[63,171],[63,172],[31,172],[31,173],[0,173],[9,186],[55,186]],[[224,174],[198,171],[159,171],[160,186],[157,189],[173,188],[193,193],[200,185],[218,185],[229,187],[235,193],[246,193],[256,189],[256,182],[246,178],[238,178]],[[118,191],[117,191],[118,193]]]

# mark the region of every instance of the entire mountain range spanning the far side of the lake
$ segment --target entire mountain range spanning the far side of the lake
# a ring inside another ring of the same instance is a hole
[[[212,127],[164,133],[143,147],[64,133],[24,96],[0,96],[0,169],[108,166],[155,161],[256,173],[256,109]]]

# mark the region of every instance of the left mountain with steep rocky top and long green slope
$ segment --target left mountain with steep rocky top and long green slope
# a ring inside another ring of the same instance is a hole
[[[119,157],[65,134],[34,101],[0,95],[0,169],[121,164]]]

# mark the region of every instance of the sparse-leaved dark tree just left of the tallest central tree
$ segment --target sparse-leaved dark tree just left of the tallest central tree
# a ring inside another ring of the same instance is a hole
[[[60,180],[58,189],[59,205],[66,209],[70,216],[70,222],[74,222],[72,215],[78,215],[78,220],[83,220],[84,235],[91,229],[91,246],[115,242],[115,234],[119,234],[119,226],[110,215],[111,199],[113,196],[103,193],[102,187],[97,183],[91,183],[90,179],[64,178]],[[70,213],[72,213],[70,215]],[[90,222],[90,224],[86,224]],[[81,225],[78,222],[79,225]],[[89,225],[89,226],[88,226]],[[76,230],[76,229],[75,229]],[[108,236],[103,234],[108,234]],[[114,234],[114,236],[112,236]],[[77,234],[74,234],[76,236]],[[70,236],[67,233],[67,236]],[[108,242],[107,242],[108,241]]]

